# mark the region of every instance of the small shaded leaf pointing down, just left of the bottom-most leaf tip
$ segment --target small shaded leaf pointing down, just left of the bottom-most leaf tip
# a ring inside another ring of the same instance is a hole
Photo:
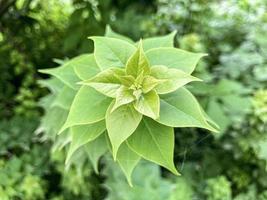
[[[95,140],[84,145],[85,151],[92,162],[95,172],[98,174],[98,160],[108,150],[106,133],[101,134]]]

